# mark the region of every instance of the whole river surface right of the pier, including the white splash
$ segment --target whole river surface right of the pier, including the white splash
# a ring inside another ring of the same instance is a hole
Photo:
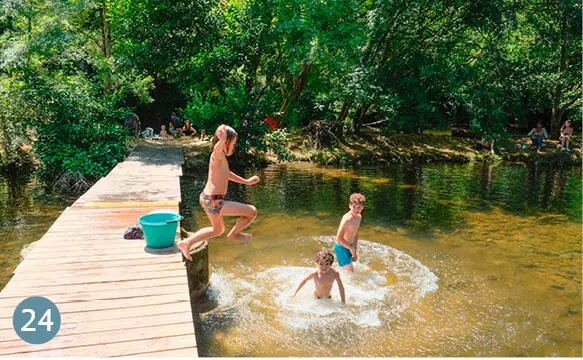
[[[203,314],[201,355],[581,356],[580,168],[288,164],[260,177],[229,187],[259,210],[253,241],[210,241],[219,306]],[[201,225],[204,181],[183,183]],[[366,241],[342,275],[348,305],[336,289],[289,300],[355,191]]]

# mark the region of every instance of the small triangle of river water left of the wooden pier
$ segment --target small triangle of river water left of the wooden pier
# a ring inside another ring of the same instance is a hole
[[[20,251],[39,240],[74,199],[35,181],[0,176],[0,289],[20,262]]]

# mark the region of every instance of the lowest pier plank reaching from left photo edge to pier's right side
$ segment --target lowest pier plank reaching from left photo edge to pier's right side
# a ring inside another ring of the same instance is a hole
[[[173,332],[174,333],[174,332]],[[43,351],[12,352],[12,356],[26,357],[112,357],[112,356],[131,356],[135,353],[167,351],[173,349],[182,349],[188,346],[195,348],[192,334],[178,334],[165,337],[140,339],[133,341],[121,341],[116,343],[106,343],[88,346],[69,346],[58,349]],[[50,342],[49,342],[50,344]]]

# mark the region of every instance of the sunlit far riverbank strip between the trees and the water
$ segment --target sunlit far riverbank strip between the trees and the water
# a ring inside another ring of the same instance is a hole
[[[197,170],[208,163],[209,142],[195,139],[172,140],[181,142],[185,148],[185,168]],[[545,140],[541,153],[530,146],[528,137],[512,137],[495,153],[476,150],[476,139],[451,136],[451,132],[429,132],[425,134],[394,134],[383,136],[378,132],[367,132],[361,137],[349,137],[340,145],[314,149],[300,133],[291,133],[285,144],[296,161],[321,165],[359,166],[403,163],[467,163],[472,161],[504,161],[535,163],[540,165],[581,166],[581,138],[575,138],[571,151],[561,151],[557,140]],[[526,148],[523,148],[526,145]],[[204,155],[204,156],[202,156]],[[268,150],[238,154],[235,163],[264,166],[279,162],[275,153]]]

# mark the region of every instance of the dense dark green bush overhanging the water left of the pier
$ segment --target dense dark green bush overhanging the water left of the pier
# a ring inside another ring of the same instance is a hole
[[[128,131],[121,119],[127,111],[85,76],[68,80],[28,79],[35,85],[27,92],[35,99],[35,116],[26,122],[36,129],[40,175],[61,190],[79,193],[126,156]]]

